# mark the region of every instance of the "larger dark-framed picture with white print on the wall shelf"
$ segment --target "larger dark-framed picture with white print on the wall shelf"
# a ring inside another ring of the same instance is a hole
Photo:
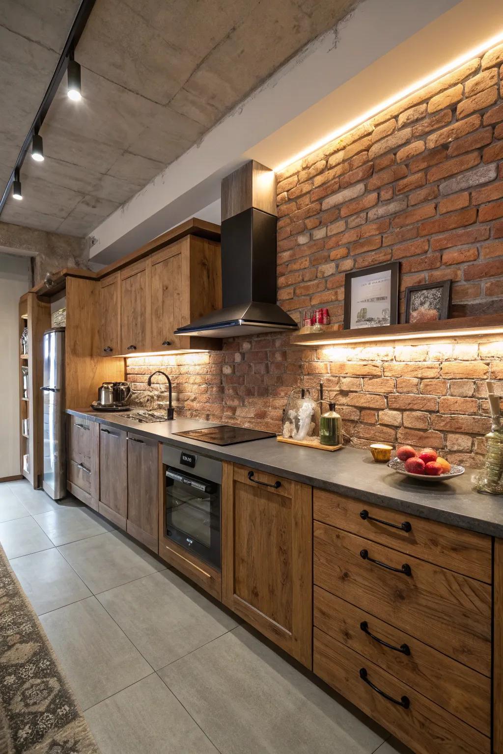
[[[346,273],[344,329],[397,324],[399,269],[400,262],[388,262]]]

